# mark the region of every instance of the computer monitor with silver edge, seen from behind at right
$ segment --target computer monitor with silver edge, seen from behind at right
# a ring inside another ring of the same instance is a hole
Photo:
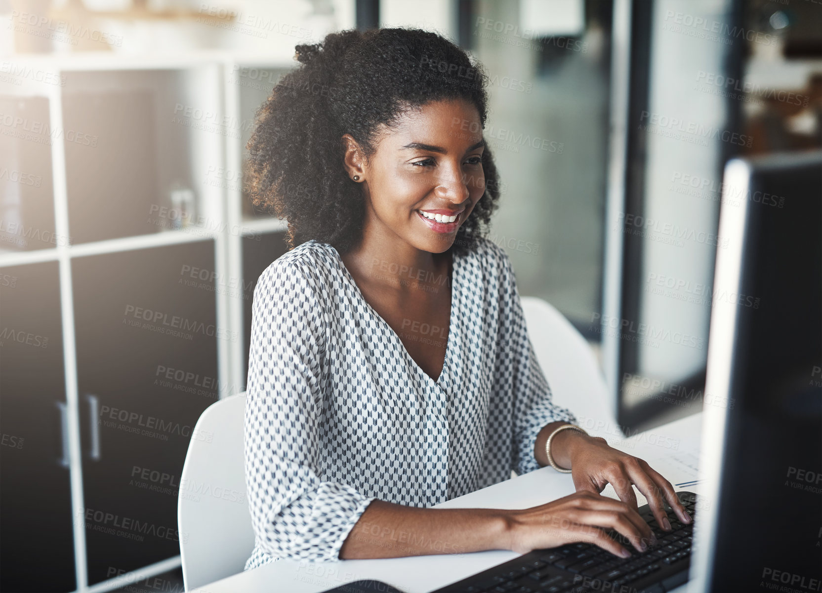
[[[822,152],[723,181],[688,591],[822,590]]]

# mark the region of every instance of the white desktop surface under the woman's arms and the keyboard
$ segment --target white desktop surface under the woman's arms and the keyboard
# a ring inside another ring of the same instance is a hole
[[[698,485],[677,487],[695,480],[692,469],[700,448],[702,415],[695,414],[644,433],[635,434],[618,444],[622,450],[641,457],[659,471],[677,490],[699,494]],[[507,480],[437,504],[435,508],[529,508],[559,499],[574,492],[570,474],[543,467],[513,480]],[[610,485],[603,494],[617,498]],[[646,503],[637,493],[640,505]],[[441,554],[375,560],[339,560],[312,563],[278,560],[275,563],[241,572],[233,577],[196,589],[200,593],[318,593],[346,582],[376,579],[406,593],[427,593],[459,581],[520,554],[505,550],[473,554]],[[685,591],[679,587],[676,591]]]

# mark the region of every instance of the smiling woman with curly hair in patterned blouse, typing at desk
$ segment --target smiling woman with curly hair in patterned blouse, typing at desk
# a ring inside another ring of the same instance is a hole
[[[563,428],[511,264],[482,237],[498,192],[481,67],[422,30],[297,53],[248,143],[255,203],[288,219],[292,249],[254,292],[246,568],[573,541],[628,555],[605,530],[653,539],[631,485],[663,528],[663,500],[690,522],[646,462]],[[428,508],[551,462],[575,494]],[[599,494],[609,482],[621,501]]]

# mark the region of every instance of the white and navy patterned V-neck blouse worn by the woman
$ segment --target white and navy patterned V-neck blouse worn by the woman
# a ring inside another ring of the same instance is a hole
[[[492,241],[452,264],[441,375],[413,361],[333,246],[307,241],[261,274],[252,305],[245,472],[255,548],[339,559],[373,499],[431,507],[538,469],[556,407],[510,260]]]

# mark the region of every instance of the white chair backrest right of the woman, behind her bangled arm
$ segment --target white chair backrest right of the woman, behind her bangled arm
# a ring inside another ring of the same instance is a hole
[[[529,338],[553,402],[569,408],[582,428],[595,434],[599,422],[611,420],[611,407],[593,349],[554,306],[536,296],[523,296],[521,301]]]

